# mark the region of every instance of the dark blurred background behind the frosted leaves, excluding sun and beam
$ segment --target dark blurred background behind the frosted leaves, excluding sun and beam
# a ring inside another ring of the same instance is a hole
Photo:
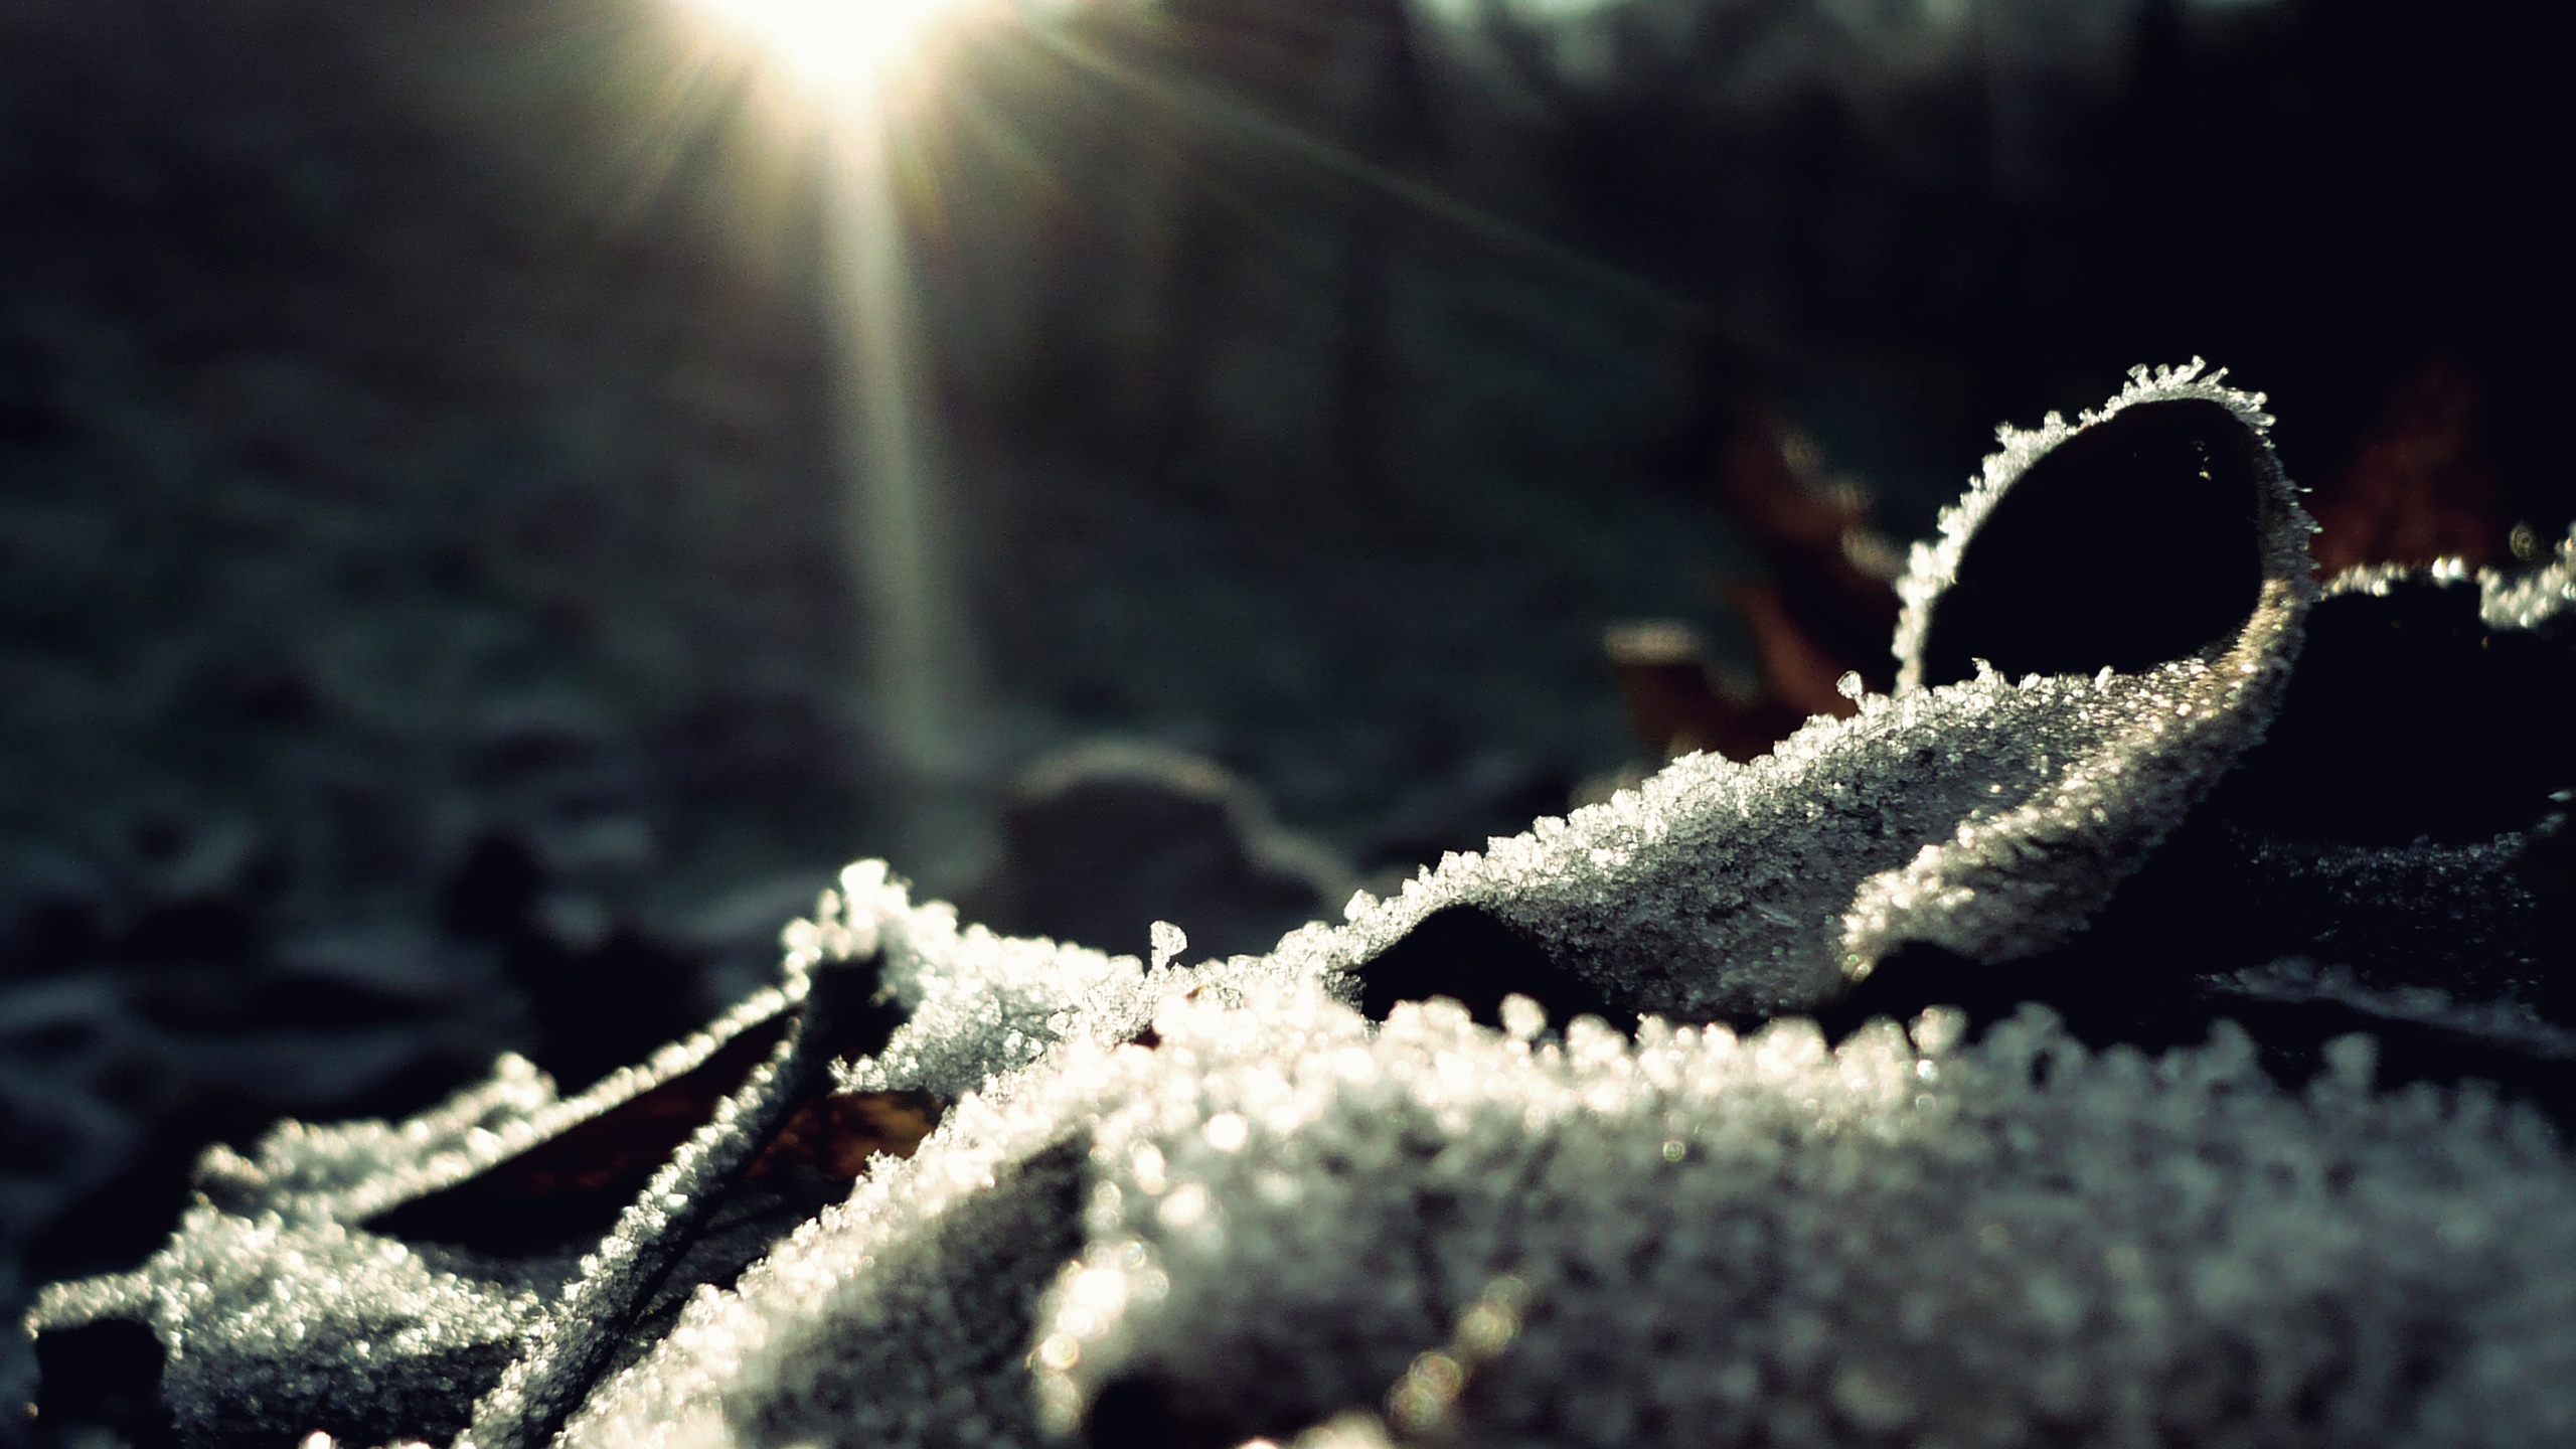
[[[817,150],[680,0],[0,0],[0,1307],[149,1250],[206,1140],[688,1029],[853,856],[1090,933],[1010,859],[1206,833],[1157,900],[1260,949],[1561,810],[1656,753],[1607,624],[1770,668],[1749,431],[1901,544],[1994,423],[2208,356],[2321,513],[2535,557],[2543,13],[961,18],[902,131],[976,712],[925,815]],[[1180,804],[1092,848],[1126,786],[1043,761],[1103,735]]]

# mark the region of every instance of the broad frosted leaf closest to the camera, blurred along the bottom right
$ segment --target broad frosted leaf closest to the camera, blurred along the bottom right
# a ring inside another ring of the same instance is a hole
[[[1461,1338],[1412,1413],[1492,1444],[2576,1431],[2576,1173],[2527,1111],[2372,1096],[2367,1052],[2285,1093],[2233,1031],[2092,1055],[2043,1013],[1533,1044],[1316,980],[1154,1029],[997,1080],[567,1444],[1036,1441],[1139,1397],[1285,1441],[1404,1415]]]

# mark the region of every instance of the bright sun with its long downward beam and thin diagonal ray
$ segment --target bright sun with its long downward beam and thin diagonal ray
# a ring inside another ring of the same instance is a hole
[[[1167,131],[1216,162],[1249,144],[1631,307],[1710,322],[1690,297],[1352,155],[1224,85],[1121,59],[1090,44],[1082,23],[1066,23],[1097,10],[1048,13],[1043,0],[675,0],[665,13],[685,34],[665,77],[665,119],[732,93],[770,126],[788,126],[773,139],[801,137],[801,155],[819,162],[809,180],[819,183],[822,322],[835,358],[837,552],[863,645],[853,706],[889,766],[899,815],[891,846],[925,874],[979,848],[966,822],[979,820],[971,797],[987,691],[953,557],[961,518],[925,333],[925,312],[938,304],[925,291],[938,281],[925,263],[951,255],[971,222],[953,211],[976,209],[953,165],[956,144],[989,144],[1015,129],[1002,113],[1012,106],[979,93],[989,77],[976,54],[1020,49],[1066,77],[1090,77],[1084,90],[1100,88],[1095,98],[1118,113],[1118,129]],[[1028,162],[1036,150],[1023,152]]]

